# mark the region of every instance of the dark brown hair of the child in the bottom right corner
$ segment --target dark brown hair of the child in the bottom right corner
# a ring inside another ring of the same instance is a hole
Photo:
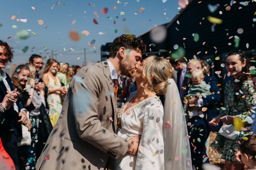
[[[256,134],[244,136],[240,140],[239,149],[241,153],[249,154],[253,156],[253,160],[256,161]]]

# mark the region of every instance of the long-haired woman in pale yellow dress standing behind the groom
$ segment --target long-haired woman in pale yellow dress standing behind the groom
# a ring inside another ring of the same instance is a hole
[[[58,62],[55,59],[48,59],[43,75],[44,83],[48,87],[47,102],[49,105],[49,118],[52,122],[52,127],[55,126],[61,113],[61,94],[65,95],[67,93],[66,87],[61,87],[61,82],[56,76],[57,67]]]

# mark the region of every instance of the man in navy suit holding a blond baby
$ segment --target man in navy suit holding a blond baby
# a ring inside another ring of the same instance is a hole
[[[191,74],[192,71],[196,69],[203,70],[201,60],[192,59],[187,63],[188,74]],[[189,105],[195,105],[191,108],[193,111],[189,112],[187,128],[190,136],[189,143],[192,164],[195,165],[195,168],[198,167],[198,170],[202,170],[201,165],[203,163],[209,162],[209,159],[205,158],[207,157],[207,154],[205,153],[204,144],[209,136],[210,130],[215,131],[220,127],[209,126],[209,121],[218,115],[215,107],[221,100],[217,79],[213,76],[204,75],[204,81],[209,85],[211,94],[206,98],[195,97],[188,99]],[[190,88],[189,84],[191,85],[192,82],[188,83],[186,87],[186,95]],[[204,109],[204,111],[202,111],[201,107],[207,108],[207,110],[205,111]]]

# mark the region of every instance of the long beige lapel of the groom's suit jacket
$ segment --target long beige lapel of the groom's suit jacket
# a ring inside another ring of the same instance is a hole
[[[108,62],[103,61],[102,65],[103,65],[103,73],[104,73],[105,77],[107,78],[106,83],[108,85],[108,90],[111,93],[111,100],[112,100],[111,104],[112,104],[112,108],[114,111],[114,115],[112,116],[112,118],[113,118],[113,122],[114,122],[114,130],[116,130],[116,123],[117,123],[116,122],[116,98],[115,98],[114,91],[113,91],[113,82],[111,79],[111,73],[110,73],[110,69],[108,66]]]

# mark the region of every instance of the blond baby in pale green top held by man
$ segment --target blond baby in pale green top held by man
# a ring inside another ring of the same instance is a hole
[[[206,82],[204,82],[204,73],[202,70],[194,70],[191,73],[192,85],[188,91],[188,95],[186,95],[186,99],[184,100],[184,112],[188,110],[189,103],[187,99],[193,97],[204,97],[210,94],[210,89],[207,88]]]

